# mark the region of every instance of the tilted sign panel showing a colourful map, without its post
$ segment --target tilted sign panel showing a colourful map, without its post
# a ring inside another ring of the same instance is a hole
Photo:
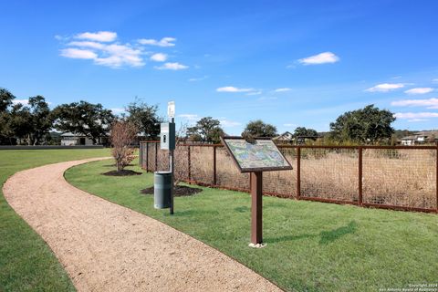
[[[269,138],[255,138],[254,142],[242,137],[224,137],[227,150],[232,154],[240,172],[267,172],[291,170],[276,144]]]

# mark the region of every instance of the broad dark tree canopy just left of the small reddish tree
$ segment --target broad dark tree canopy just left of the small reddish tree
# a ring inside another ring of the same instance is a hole
[[[106,136],[110,131],[114,115],[100,103],[92,104],[81,100],[57,106],[53,110],[53,119],[57,130],[80,133],[96,143],[99,137]]]

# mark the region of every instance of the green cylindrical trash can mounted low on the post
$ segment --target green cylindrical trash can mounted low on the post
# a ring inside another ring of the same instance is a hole
[[[171,207],[172,172],[154,172],[153,207],[165,209]]]

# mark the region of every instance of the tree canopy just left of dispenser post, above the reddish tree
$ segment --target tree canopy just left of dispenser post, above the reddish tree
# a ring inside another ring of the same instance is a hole
[[[156,139],[160,134],[162,118],[158,116],[158,106],[149,106],[141,101],[131,102],[125,109],[129,116],[127,121],[133,123],[141,134],[150,139]]]

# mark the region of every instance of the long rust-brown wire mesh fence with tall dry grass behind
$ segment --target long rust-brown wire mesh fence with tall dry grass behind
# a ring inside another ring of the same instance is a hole
[[[438,213],[437,146],[278,145],[291,171],[264,172],[266,195],[326,203]],[[175,179],[249,192],[223,145],[180,144]],[[158,141],[141,141],[141,168],[168,170],[169,155]]]

